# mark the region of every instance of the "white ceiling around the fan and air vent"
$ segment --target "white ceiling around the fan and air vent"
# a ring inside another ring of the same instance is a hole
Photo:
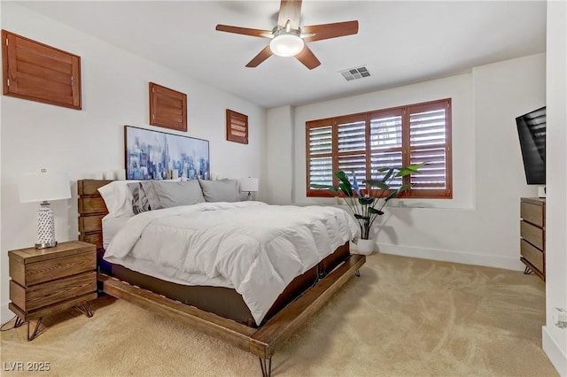
[[[322,65],[272,56],[245,65],[268,39],[216,24],[270,30],[279,1],[22,2],[215,88],[270,108],[309,104],[470,72],[544,52],[545,1],[304,1],[302,26],[358,19],[358,35],[310,42]],[[338,72],[366,65],[369,78]]]

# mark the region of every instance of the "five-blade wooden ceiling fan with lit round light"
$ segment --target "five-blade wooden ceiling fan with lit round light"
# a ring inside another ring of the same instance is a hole
[[[247,67],[258,66],[272,54],[276,54],[281,57],[295,57],[309,69],[321,65],[321,62],[309,50],[305,42],[321,41],[358,33],[358,21],[299,27],[300,13],[301,0],[282,0],[277,17],[277,26],[271,31],[228,25],[217,25],[216,30],[271,39],[268,46],[248,62]]]

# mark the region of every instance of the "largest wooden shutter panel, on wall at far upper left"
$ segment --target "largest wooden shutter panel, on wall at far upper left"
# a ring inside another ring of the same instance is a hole
[[[2,30],[4,96],[81,110],[81,57]]]

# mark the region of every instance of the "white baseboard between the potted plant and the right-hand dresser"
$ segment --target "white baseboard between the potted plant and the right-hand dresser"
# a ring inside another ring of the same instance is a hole
[[[386,243],[378,243],[378,250],[384,254],[440,260],[444,262],[462,263],[465,265],[485,265],[486,267],[503,268],[514,271],[523,271],[525,268],[522,262],[520,262],[519,251],[517,257],[499,257],[486,254],[473,254],[463,251],[423,249]]]

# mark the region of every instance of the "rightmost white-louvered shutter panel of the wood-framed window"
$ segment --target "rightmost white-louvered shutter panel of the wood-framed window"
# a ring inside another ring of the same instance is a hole
[[[449,109],[449,100],[409,107],[410,163],[427,163],[420,169],[422,173],[411,175],[416,193],[436,190],[438,196],[450,195]]]

